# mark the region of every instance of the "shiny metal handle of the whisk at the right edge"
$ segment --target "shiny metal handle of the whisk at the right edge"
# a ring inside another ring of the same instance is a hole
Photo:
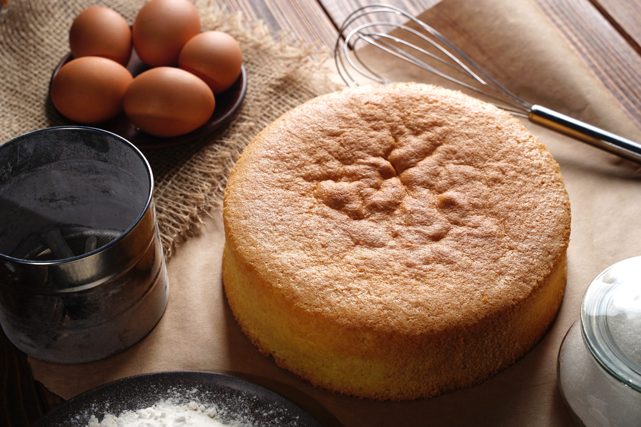
[[[588,125],[580,120],[557,113],[552,109],[540,105],[532,106],[529,113],[529,120],[641,164],[641,144],[635,141]]]

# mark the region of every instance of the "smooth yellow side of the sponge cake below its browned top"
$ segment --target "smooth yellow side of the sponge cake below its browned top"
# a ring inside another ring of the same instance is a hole
[[[563,252],[529,295],[491,316],[436,334],[338,325],[292,303],[226,243],[222,278],[245,334],[265,355],[314,385],[372,399],[416,399],[469,387],[513,364],[540,340],[560,307]],[[492,304],[491,301],[487,302]]]

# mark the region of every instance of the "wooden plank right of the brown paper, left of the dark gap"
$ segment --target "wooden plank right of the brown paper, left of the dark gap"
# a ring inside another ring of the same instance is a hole
[[[641,56],[588,0],[535,1],[641,128]]]

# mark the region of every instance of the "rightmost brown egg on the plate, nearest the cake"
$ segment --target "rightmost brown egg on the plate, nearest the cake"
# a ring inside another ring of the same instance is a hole
[[[196,74],[213,93],[221,93],[240,76],[242,52],[235,38],[222,31],[204,31],[185,44],[178,67]]]

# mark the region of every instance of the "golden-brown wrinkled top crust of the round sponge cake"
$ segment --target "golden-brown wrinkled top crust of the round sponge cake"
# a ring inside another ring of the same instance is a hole
[[[526,298],[567,248],[569,200],[508,113],[428,85],[313,99],[238,159],[227,238],[292,302],[420,333]]]

